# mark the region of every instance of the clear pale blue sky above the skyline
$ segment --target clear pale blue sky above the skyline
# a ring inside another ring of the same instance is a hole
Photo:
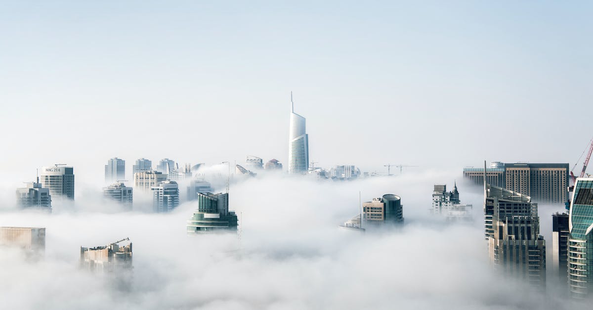
[[[286,162],[291,90],[321,166],[572,166],[593,137],[587,1],[49,2],[0,1],[17,173]]]

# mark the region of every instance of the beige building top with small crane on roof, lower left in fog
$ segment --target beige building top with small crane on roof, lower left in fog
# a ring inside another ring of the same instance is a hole
[[[132,269],[132,242],[120,246],[117,243],[130,239],[122,239],[104,246],[94,248],[80,247],[80,265],[82,268],[102,273],[119,273]]]

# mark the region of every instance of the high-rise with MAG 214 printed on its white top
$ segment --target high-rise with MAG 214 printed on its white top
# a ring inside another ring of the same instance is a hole
[[[41,172],[43,188],[49,189],[53,199],[74,200],[74,168],[55,165],[43,167]]]

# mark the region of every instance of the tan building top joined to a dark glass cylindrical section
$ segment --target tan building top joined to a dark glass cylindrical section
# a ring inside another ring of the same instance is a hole
[[[397,195],[386,194],[381,198],[362,203],[363,223],[368,224],[396,224],[404,223],[401,198]]]

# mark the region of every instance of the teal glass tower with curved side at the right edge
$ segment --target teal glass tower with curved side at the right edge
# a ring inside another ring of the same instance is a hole
[[[570,295],[593,298],[593,178],[577,178],[569,211]]]

